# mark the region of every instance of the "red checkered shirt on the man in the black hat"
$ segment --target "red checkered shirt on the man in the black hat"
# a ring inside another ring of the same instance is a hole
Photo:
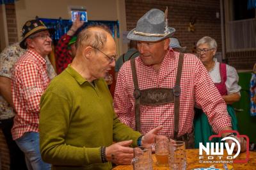
[[[46,60],[27,50],[15,63],[12,73],[12,97],[17,114],[12,128],[13,140],[26,132],[38,132],[40,97],[50,79]]]

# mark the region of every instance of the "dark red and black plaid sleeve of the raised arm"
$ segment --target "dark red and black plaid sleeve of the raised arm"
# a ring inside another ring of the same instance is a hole
[[[60,40],[58,41],[58,44],[56,45],[55,56],[58,74],[65,70],[68,64],[72,62],[72,58],[68,53],[68,42],[71,38],[72,36],[65,34],[61,36]]]

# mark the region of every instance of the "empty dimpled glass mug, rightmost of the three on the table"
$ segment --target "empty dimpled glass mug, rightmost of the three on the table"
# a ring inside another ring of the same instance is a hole
[[[169,166],[171,170],[186,170],[186,146],[183,141],[169,143]]]

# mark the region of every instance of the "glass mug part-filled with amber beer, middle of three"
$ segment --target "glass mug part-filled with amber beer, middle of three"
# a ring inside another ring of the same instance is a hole
[[[157,166],[168,166],[170,139],[164,135],[156,135],[155,137],[155,155]]]

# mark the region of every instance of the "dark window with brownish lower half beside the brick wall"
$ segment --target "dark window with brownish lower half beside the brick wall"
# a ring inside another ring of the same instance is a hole
[[[256,49],[255,9],[247,9],[250,0],[222,0],[225,4],[227,52]]]

